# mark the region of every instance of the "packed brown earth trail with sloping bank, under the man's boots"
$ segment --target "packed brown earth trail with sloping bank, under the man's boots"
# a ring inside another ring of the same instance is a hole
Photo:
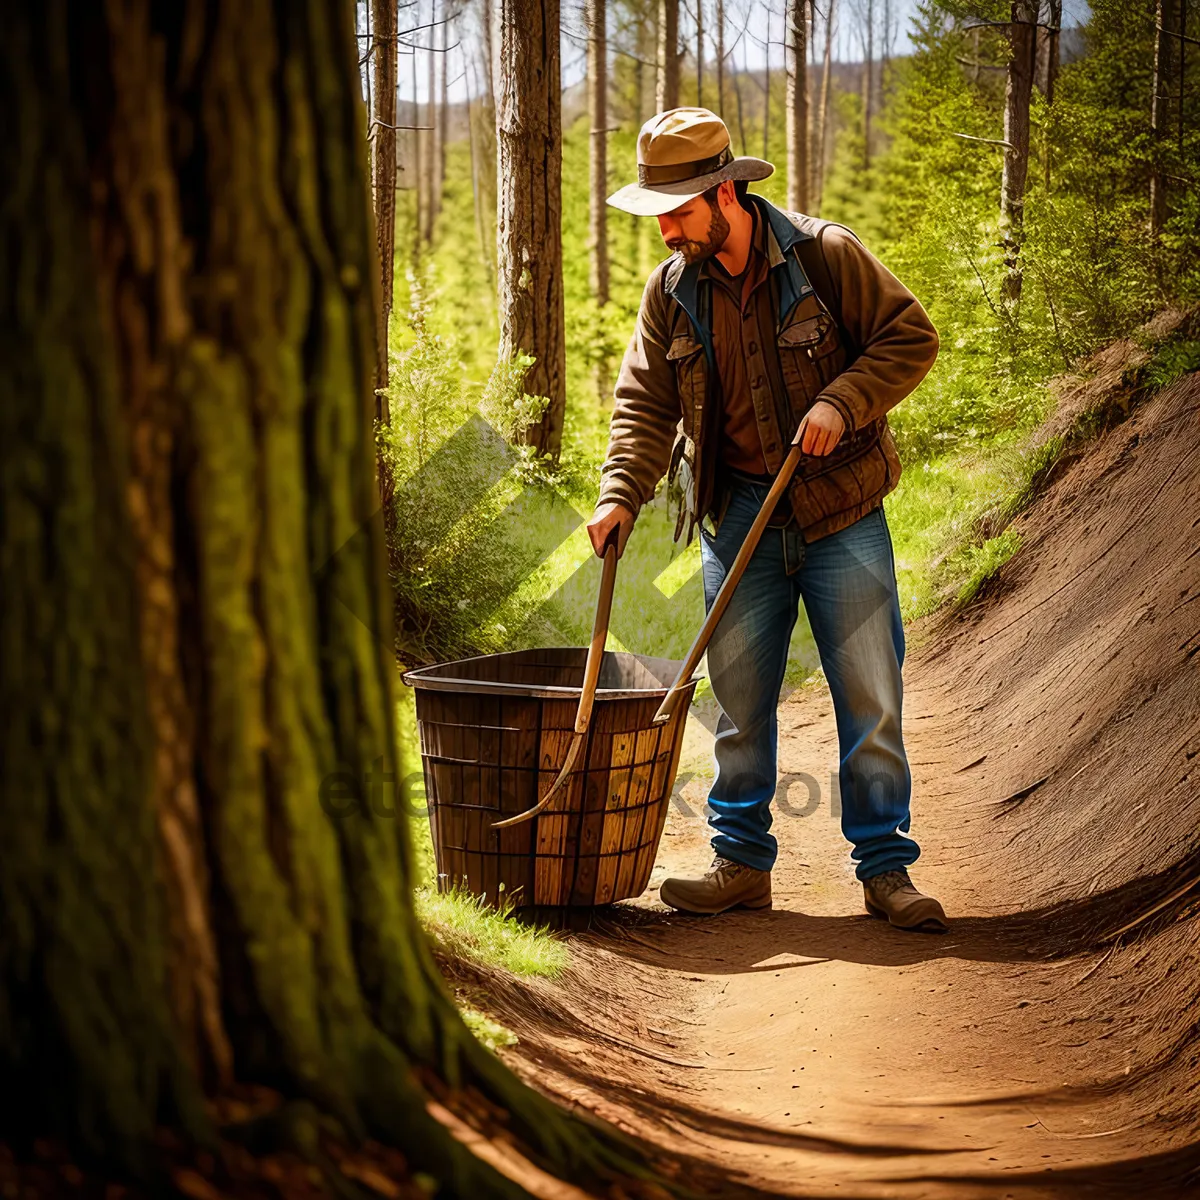
[[[1097,402],[1104,370],[1092,364],[1076,404]],[[791,786],[773,911],[690,918],[658,900],[666,875],[710,857],[707,781],[692,780],[650,892],[576,935],[565,983],[502,998],[521,1037],[509,1061],[720,1166],[731,1195],[1187,1194],[1200,1177],[1198,496],[1193,374],[1068,456],[970,608],[910,631],[912,874],[949,934],[865,914],[816,680],[780,709]],[[689,736],[709,737],[700,722]],[[809,778],[823,781],[815,802]]]

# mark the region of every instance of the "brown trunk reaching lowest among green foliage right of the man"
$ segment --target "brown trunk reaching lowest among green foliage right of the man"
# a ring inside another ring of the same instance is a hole
[[[1025,181],[1030,169],[1030,96],[1033,91],[1038,0],[1013,0],[1008,72],[1004,84],[1004,167],[1000,181],[1000,234],[1004,250],[1004,299],[1021,299],[1021,244],[1025,240]]]

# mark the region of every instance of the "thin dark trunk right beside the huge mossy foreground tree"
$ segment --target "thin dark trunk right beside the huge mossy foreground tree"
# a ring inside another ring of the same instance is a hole
[[[376,330],[376,388],[388,386],[388,322],[396,266],[396,0],[371,0],[374,60],[374,114],[371,169],[374,185],[376,241],[379,246],[379,328]],[[386,421],[388,397],[376,394],[376,419]]]

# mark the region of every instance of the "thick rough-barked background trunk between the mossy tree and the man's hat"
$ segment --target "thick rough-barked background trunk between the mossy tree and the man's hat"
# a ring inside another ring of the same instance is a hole
[[[533,355],[524,392],[547,404],[524,440],[557,458],[566,410],[558,0],[499,0],[499,22],[500,358]]]

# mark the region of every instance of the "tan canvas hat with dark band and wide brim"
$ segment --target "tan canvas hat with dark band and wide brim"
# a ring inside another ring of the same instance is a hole
[[[608,197],[614,209],[656,217],[726,179],[766,179],[775,168],[734,156],[730,131],[707,108],[668,108],[637,134],[637,182]]]

